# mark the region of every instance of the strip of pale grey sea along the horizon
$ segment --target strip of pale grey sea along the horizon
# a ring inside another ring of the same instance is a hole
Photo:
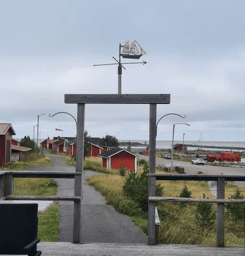
[[[149,145],[149,140],[119,140],[119,142],[124,142],[128,143],[130,141],[131,142],[139,142],[143,145],[146,146],[141,146],[141,147],[134,147],[133,145],[131,145],[131,148],[135,148],[135,149],[143,149],[144,147],[147,147]],[[183,144],[183,140],[174,140],[174,145],[175,144]],[[234,148],[237,147],[241,147],[241,148],[245,148],[245,142],[242,141],[184,141],[184,144],[187,145],[193,145],[194,147],[188,147],[188,150],[196,150],[196,149],[202,149],[203,146],[215,146],[215,147],[220,147],[219,149],[215,149],[215,148],[208,148],[205,147],[205,150],[214,150],[214,151],[220,151],[220,150],[233,150],[233,151],[245,151],[245,150],[236,150]],[[196,146],[196,147],[195,147]],[[224,147],[224,148],[222,148]],[[228,147],[229,149],[225,148]],[[156,141],[156,149],[171,149],[172,148],[172,140],[157,140]]]

